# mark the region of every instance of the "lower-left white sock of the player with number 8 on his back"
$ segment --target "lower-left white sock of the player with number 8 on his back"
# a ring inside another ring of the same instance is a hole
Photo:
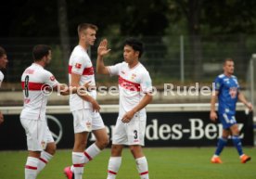
[[[37,175],[37,165],[39,160],[37,158],[28,157],[25,166],[25,179],[35,179]]]

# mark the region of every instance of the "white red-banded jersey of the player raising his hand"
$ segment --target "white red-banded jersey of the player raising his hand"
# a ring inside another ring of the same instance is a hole
[[[126,112],[134,109],[146,93],[152,92],[151,78],[141,63],[138,63],[133,69],[130,69],[126,62],[109,66],[109,74],[119,76],[120,118]],[[146,109],[141,109],[138,114],[145,117]]]

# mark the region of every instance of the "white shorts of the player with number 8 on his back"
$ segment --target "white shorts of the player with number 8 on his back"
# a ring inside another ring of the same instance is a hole
[[[48,143],[54,142],[46,121],[21,118],[20,122],[27,135],[28,150],[42,151]]]

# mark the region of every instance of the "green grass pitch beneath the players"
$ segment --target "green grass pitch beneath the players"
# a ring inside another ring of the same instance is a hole
[[[244,147],[252,157],[240,163],[234,147],[224,148],[223,164],[211,164],[214,147],[144,148],[150,179],[255,179],[255,147]],[[104,150],[85,166],[83,179],[106,179],[110,150]],[[117,179],[138,179],[134,159],[128,149],[122,154],[122,167]],[[0,178],[24,178],[27,151],[0,151]],[[58,150],[38,179],[65,179],[63,168],[71,163],[71,150]]]

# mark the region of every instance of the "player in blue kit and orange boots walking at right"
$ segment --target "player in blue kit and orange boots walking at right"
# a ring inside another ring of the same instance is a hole
[[[250,160],[250,157],[243,153],[235,115],[237,99],[239,99],[250,110],[252,110],[252,105],[240,92],[237,77],[234,76],[233,73],[234,61],[231,58],[226,58],[224,60],[224,73],[220,74],[215,79],[215,91],[213,91],[211,96],[211,121],[216,121],[217,118],[219,118],[223,124],[223,134],[218,141],[216,151],[211,158],[211,163],[222,163],[219,156],[226,145],[229,135],[232,136],[234,146],[237,148],[241,162],[246,163]],[[218,116],[215,111],[215,102],[217,98],[219,102]]]

